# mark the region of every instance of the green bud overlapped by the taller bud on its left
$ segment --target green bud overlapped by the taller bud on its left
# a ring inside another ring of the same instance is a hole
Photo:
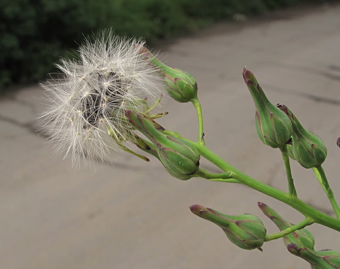
[[[323,140],[318,135],[307,131],[287,106],[278,104],[277,107],[289,117],[293,126],[292,153],[294,159],[304,168],[321,166],[327,156]]]

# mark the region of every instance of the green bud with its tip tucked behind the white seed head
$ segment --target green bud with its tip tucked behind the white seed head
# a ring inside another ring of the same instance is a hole
[[[180,69],[166,66],[145,47],[139,46],[139,48],[140,52],[154,67],[158,68],[159,73],[164,77],[164,83],[171,98],[178,102],[188,102],[197,97],[197,83],[193,76]]]

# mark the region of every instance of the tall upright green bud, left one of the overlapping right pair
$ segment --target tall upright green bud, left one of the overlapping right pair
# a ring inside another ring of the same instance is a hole
[[[293,133],[289,118],[267,99],[254,74],[245,67],[243,79],[255,103],[255,124],[258,137],[265,145],[272,148],[284,146]]]

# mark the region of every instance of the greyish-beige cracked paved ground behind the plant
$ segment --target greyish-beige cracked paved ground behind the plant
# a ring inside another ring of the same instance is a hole
[[[324,164],[340,199],[340,6],[281,12],[270,19],[219,25],[161,49],[167,63],[194,75],[205,119],[206,145],[251,176],[286,190],[280,153],[255,134],[254,105],[242,79],[252,70],[269,99],[289,105],[328,147]],[[1,269],[309,268],[280,240],[263,252],[234,247],[213,224],[190,213],[199,203],[226,214],[253,213],[269,232],[276,227],[257,209],[271,205],[292,222],[302,216],[241,185],[183,182],[153,159],[125,154],[115,167],[68,168],[36,134],[38,85],[0,100]],[[196,139],[187,104],[168,101],[160,122]],[[212,168],[203,164],[204,168]],[[301,199],[330,211],[310,170],[293,165]],[[316,249],[340,251],[339,235],[309,229]]]

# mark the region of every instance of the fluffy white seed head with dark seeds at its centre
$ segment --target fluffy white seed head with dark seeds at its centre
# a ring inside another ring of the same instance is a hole
[[[124,111],[142,112],[145,98],[156,101],[162,95],[162,78],[139,45],[141,40],[104,31],[93,42],[85,40],[78,60],[62,59],[57,77],[41,84],[47,106],[39,118],[43,130],[72,165],[81,157],[85,164],[107,162],[117,142],[133,139]]]

